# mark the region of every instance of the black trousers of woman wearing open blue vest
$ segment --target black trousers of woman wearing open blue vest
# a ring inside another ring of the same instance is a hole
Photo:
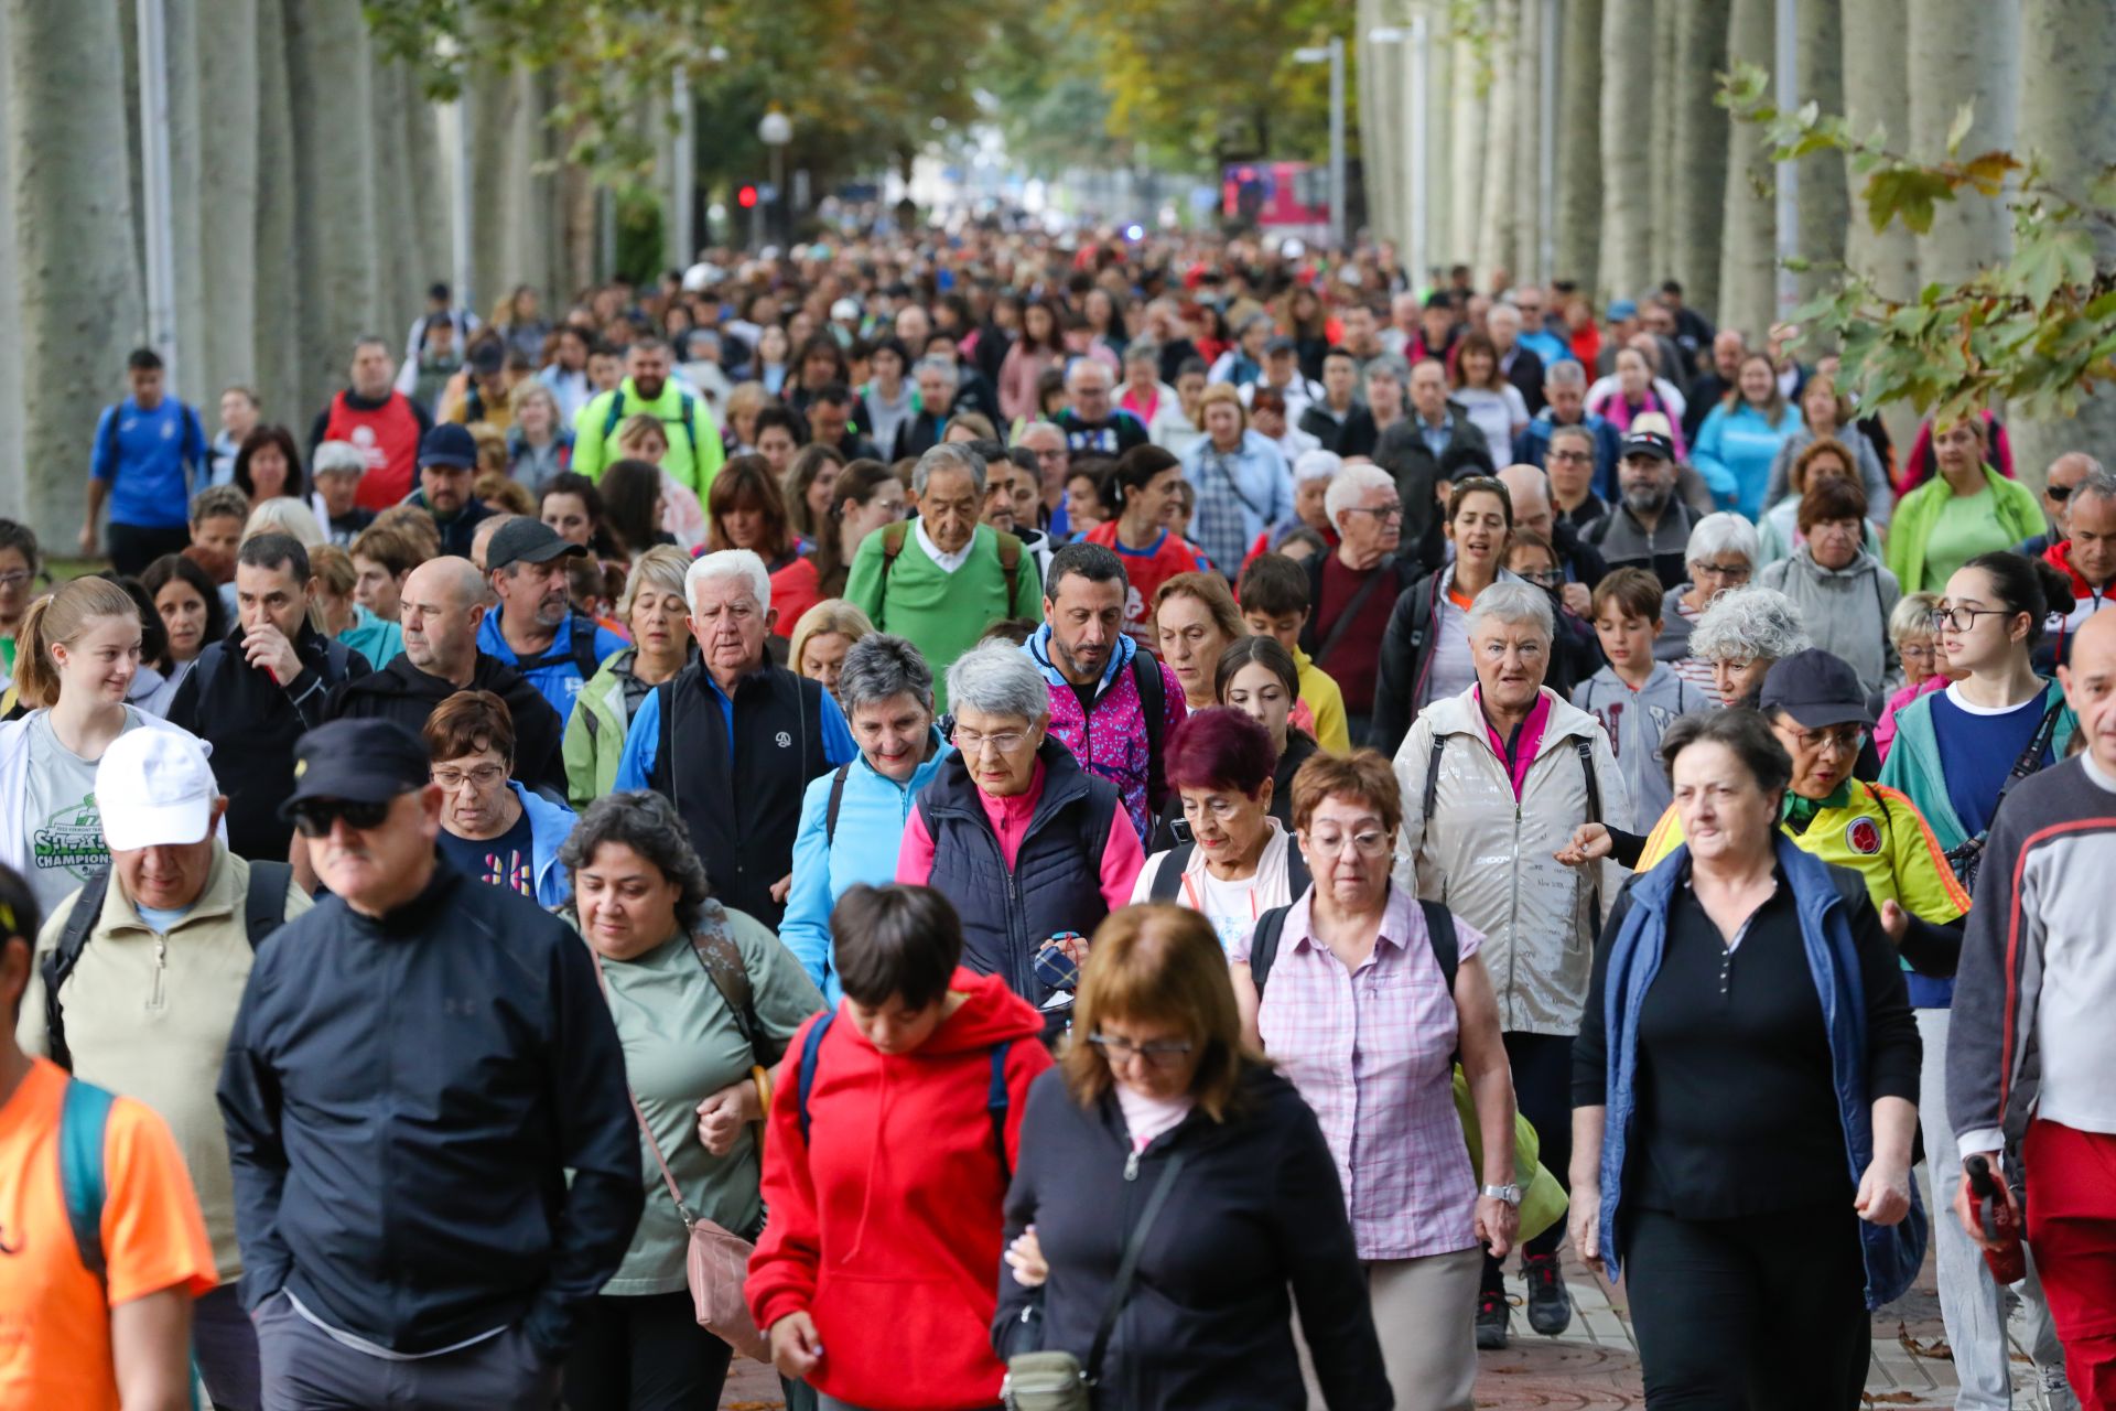
[[[1858,1216],[1623,1212],[1648,1411],[1856,1411],[1873,1324]]]

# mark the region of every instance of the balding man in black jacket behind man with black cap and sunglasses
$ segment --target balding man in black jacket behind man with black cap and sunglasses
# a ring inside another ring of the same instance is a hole
[[[394,719],[419,732],[455,692],[493,692],[514,717],[514,778],[565,798],[565,721],[527,677],[478,652],[478,624],[489,607],[476,565],[427,558],[404,580],[398,611],[404,652],[330,692],[324,719]]]

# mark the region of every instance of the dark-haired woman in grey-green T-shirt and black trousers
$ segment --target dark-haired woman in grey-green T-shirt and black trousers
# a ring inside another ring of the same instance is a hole
[[[764,1223],[768,1070],[823,1007],[764,924],[713,901],[688,838],[662,795],[612,793],[561,853],[624,1043],[647,1193],[624,1263],[588,1301],[567,1356],[571,1411],[719,1405],[732,1348],[698,1326],[686,1216],[738,1235]]]

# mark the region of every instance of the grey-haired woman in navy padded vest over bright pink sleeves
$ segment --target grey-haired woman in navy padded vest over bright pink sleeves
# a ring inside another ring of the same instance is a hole
[[[1050,685],[1014,643],[961,656],[948,700],[956,753],[904,823],[897,882],[948,897],[963,916],[963,965],[1003,975],[1056,1032],[1081,937],[1132,899],[1138,829],[1117,787],[1050,736]]]

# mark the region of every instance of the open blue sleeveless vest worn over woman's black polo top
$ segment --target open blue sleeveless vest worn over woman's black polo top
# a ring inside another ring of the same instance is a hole
[[[1792,886],[1801,916],[1801,939],[1807,946],[1807,967],[1816,975],[1822,998],[1822,1022],[1830,1030],[1830,1068],[1837,1079],[1837,1113],[1845,1128],[1845,1159],[1852,1185],[1873,1161],[1873,1104],[1866,1098],[1866,994],[1860,984],[1860,960],[1852,939],[1852,918],[1845,893],[1830,876],[1832,867],[1811,857],[1786,838],[1773,833],[1777,865]],[[1625,1157],[1629,1155],[1631,1121],[1638,1111],[1638,1013],[1661,971],[1667,943],[1667,905],[1682,884],[1689,846],[1670,853],[1657,867],[1640,874],[1627,886],[1621,914],[1610,916],[1608,973],[1602,992],[1602,1024],[1606,1039],[1606,1121],[1602,1128],[1602,1259],[1610,1280],[1619,1278],[1617,1214],[1625,1189]],[[1839,869],[1841,872],[1841,869]],[[1847,874],[1849,886],[1864,893],[1858,874]],[[1860,1244],[1866,1259],[1866,1307],[1894,1303],[1917,1278],[1926,1261],[1926,1210],[1911,1185],[1911,1214],[1900,1225],[1860,1223]]]

